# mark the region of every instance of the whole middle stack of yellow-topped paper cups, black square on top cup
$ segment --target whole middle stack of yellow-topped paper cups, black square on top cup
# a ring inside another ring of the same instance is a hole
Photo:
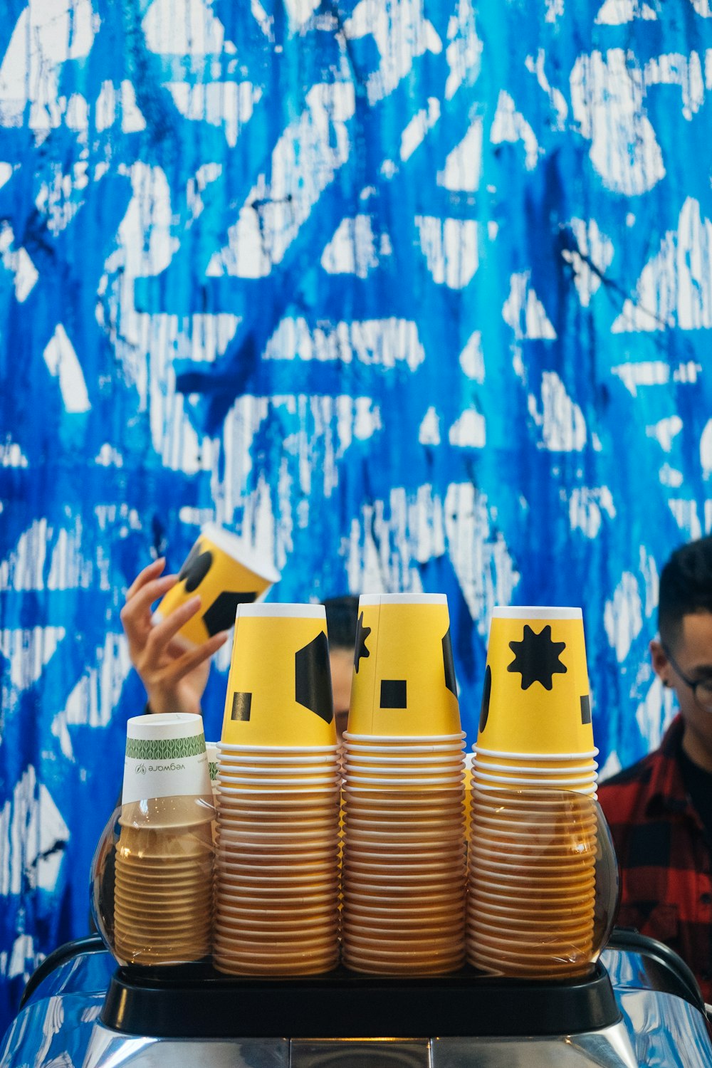
[[[361,597],[344,741],[344,963],[453,971],[464,960],[464,734],[443,595]]]

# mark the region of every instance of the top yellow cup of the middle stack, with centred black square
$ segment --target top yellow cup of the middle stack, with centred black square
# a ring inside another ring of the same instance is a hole
[[[460,732],[444,594],[359,599],[348,731],[416,739]]]

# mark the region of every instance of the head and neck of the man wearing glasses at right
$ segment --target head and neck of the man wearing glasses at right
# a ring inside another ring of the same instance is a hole
[[[712,771],[712,537],[676,549],[660,576],[652,665],[684,721],[682,748]]]

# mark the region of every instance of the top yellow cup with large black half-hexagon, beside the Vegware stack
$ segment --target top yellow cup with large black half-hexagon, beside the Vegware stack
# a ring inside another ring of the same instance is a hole
[[[336,744],[323,606],[239,606],[222,743]]]

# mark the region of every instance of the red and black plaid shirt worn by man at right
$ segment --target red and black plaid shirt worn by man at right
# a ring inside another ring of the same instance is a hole
[[[712,853],[686,795],[678,716],[660,749],[599,786],[622,874],[617,924],[685,960],[712,1002]]]

